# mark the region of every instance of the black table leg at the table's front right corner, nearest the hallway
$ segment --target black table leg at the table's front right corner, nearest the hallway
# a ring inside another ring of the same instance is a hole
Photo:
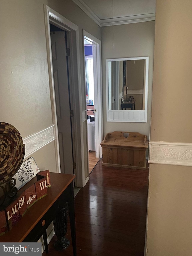
[[[71,239],[73,245],[73,256],[76,256],[76,231],[75,231],[75,203],[73,195],[73,182],[70,184],[70,200],[69,203],[69,218],[70,218],[70,227],[71,227]]]

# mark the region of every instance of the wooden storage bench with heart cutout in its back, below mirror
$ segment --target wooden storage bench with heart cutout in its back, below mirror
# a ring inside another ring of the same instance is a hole
[[[147,136],[138,132],[114,131],[101,142],[102,165],[146,169]]]

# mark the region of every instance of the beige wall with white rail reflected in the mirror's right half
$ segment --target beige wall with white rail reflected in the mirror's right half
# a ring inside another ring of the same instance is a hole
[[[129,88],[128,98],[134,96],[135,110],[143,110],[144,71],[144,59],[127,61],[126,86]]]

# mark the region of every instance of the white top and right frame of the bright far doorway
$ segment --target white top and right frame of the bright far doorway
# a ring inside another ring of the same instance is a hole
[[[83,30],[83,42],[84,38],[91,42],[93,50],[94,104],[97,110],[95,115],[95,155],[97,158],[101,158],[102,150],[100,143],[103,140],[101,40]]]

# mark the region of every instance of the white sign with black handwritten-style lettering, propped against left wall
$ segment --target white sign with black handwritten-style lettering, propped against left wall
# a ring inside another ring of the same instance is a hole
[[[20,189],[39,172],[39,168],[33,157],[28,158],[21,164],[18,172],[13,176],[16,179],[16,188]]]

